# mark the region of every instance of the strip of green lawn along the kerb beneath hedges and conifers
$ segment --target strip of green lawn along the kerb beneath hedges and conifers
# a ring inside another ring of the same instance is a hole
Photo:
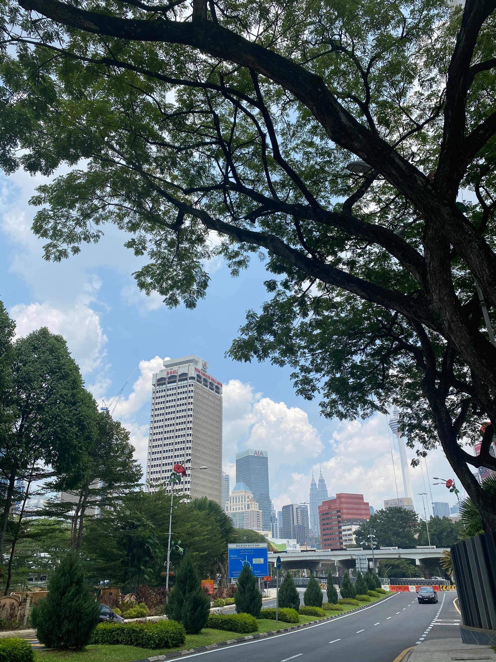
[[[379,598],[371,598],[370,604]],[[360,606],[366,606],[367,602],[360,602]],[[355,609],[352,604],[343,604],[343,612],[348,612]],[[337,616],[343,612],[326,612],[328,616]],[[324,617],[321,617],[324,618]],[[321,620],[318,616],[303,616],[300,615],[300,623],[311,623],[313,621]],[[270,630],[284,630],[285,628],[292,628],[296,623],[283,623],[282,621],[276,622],[261,618],[258,621],[258,632],[270,632]],[[226,632],[226,630],[213,630],[206,628],[200,634],[186,635],[185,645],[179,648],[138,648],[136,646],[123,646],[123,645],[94,645],[87,646],[84,651],[36,651],[36,659],[39,662],[132,662],[133,660],[142,659],[144,657],[153,657],[153,655],[165,655],[166,653],[174,653],[184,651],[190,648],[197,648],[198,646],[207,646],[210,643],[218,643],[219,641],[227,641],[227,639],[237,639],[242,635],[236,632]]]

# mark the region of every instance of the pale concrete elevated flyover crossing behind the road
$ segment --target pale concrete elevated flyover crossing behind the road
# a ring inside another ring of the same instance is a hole
[[[376,567],[379,561],[395,561],[396,559],[409,559],[415,565],[425,566],[429,561],[440,559],[443,551],[449,547],[413,547],[411,549],[399,549],[388,547],[386,549],[374,549],[374,561]],[[325,551],[282,551],[269,552],[269,563],[275,563],[280,556],[281,568],[283,570],[308,569],[310,571],[329,569],[342,569],[342,572],[350,568],[359,567],[356,557],[366,556],[372,565],[371,549],[336,549]]]

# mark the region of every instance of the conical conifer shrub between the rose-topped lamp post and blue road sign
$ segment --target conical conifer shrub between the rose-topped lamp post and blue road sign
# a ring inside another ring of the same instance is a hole
[[[188,634],[198,634],[208,621],[210,598],[202,591],[202,581],[192,554],[186,551],[176,575],[167,614],[183,624]]]

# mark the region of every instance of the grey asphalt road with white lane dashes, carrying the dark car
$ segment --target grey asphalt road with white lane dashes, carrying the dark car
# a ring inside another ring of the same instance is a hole
[[[315,622],[267,639],[181,655],[198,662],[392,662],[401,651],[429,639],[460,637],[455,591],[437,604],[419,604],[415,593],[396,593],[357,612]],[[461,639],[460,639],[461,641]]]

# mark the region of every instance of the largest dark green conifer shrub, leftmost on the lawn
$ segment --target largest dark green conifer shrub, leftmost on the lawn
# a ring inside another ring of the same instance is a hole
[[[34,605],[31,620],[47,648],[84,648],[100,617],[100,604],[85,584],[77,553],[65,556],[48,583],[48,595]]]

